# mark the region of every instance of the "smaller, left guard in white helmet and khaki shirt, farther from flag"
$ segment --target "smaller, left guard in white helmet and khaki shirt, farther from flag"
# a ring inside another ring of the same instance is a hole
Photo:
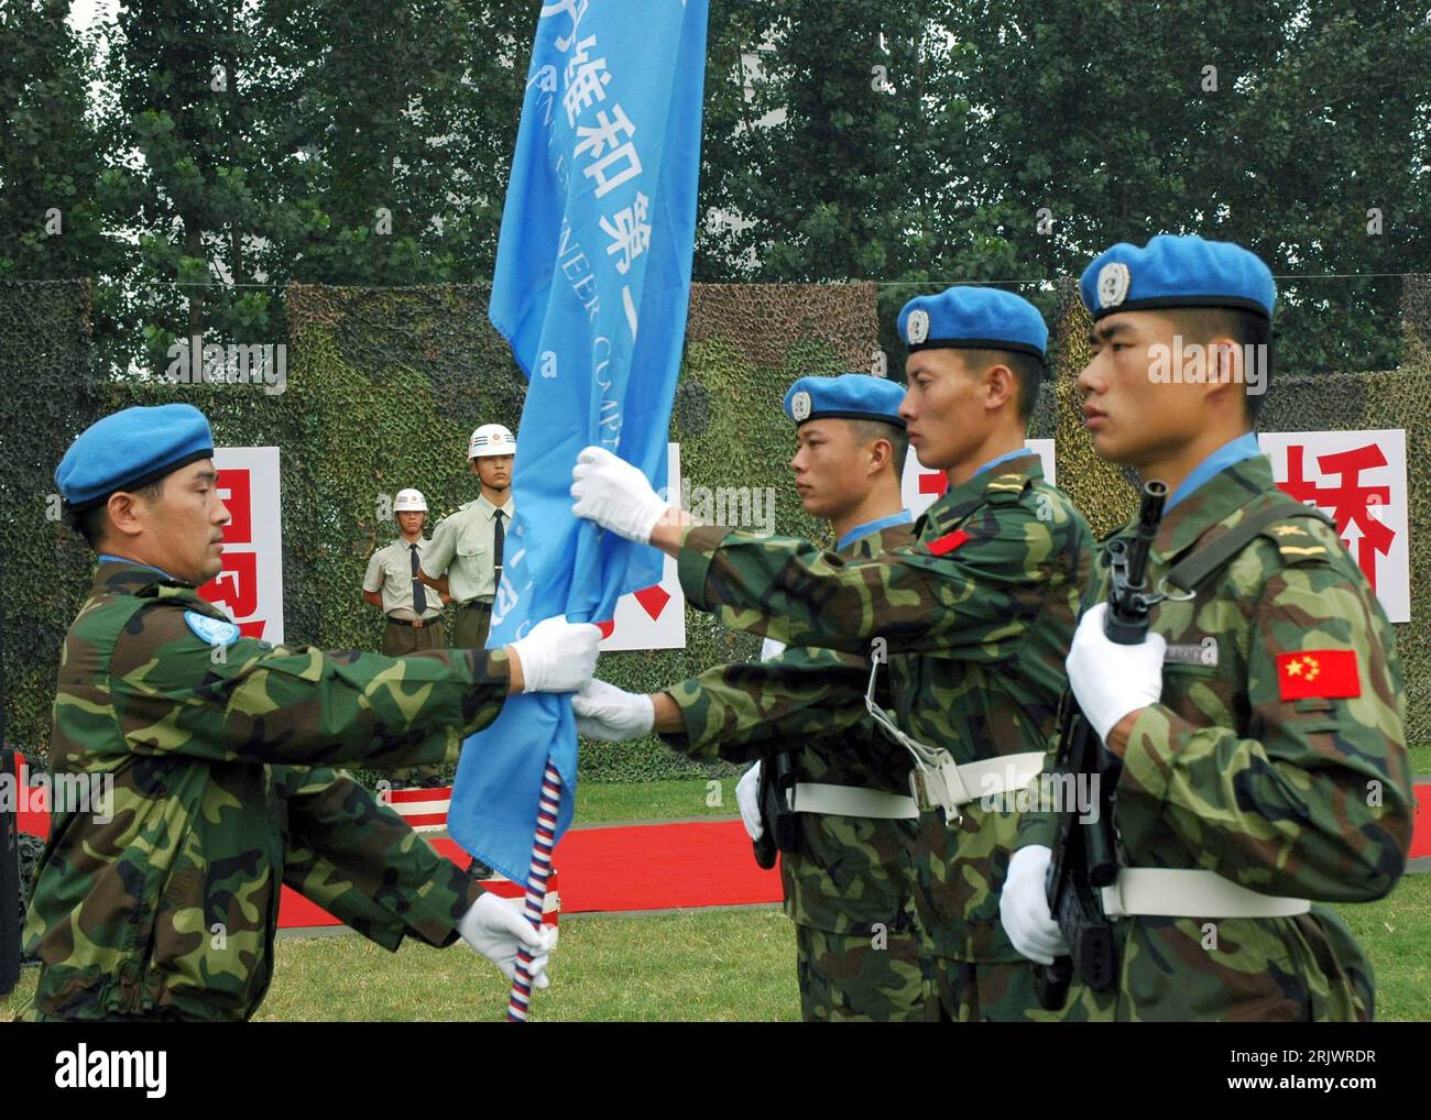
[[[422,491],[398,491],[392,509],[401,535],[372,554],[362,581],[363,601],[386,618],[382,654],[404,657],[424,649],[446,649],[442,595],[418,579],[421,558],[428,548],[422,536],[428,501]],[[435,765],[404,767],[392,772],[392,781],[399,788],[409,784],[432,787],[441,784],[438,774]]]

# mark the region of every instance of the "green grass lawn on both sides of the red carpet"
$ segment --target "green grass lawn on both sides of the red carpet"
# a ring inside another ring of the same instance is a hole
[[[588,784],[578,798],[578,824],[734,812],[728,781],[721,805],[705,804],[703,781]],[[1407,875],[1390,898],[1338,910],[1371,954],[1377,1017],[1431,1020],[1431,875]],[[24,970],[19,990],[0,1000],[0,1020],[34,990],[34,977]],[[777,907],[571,915],[552,988],[532,1007],[532,1021],[796,1020],[794,934]],[[258,1018],[498,1020],[505,1010],[507,981],[461,945],[408,943],[394,954],[346,934],[282,938]]]

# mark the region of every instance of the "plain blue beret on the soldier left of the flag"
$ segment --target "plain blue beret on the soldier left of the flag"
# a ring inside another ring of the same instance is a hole
[[[114,491],[133,491],[196,459],[213,458],[209,421],[193,405],[126,408],[96,421],[54,469],[54,485],[74,511]]]

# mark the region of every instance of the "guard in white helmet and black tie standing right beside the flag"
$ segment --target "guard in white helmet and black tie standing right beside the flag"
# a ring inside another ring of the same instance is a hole
[[[492,624],[492,598],[502,578],[502,549],[512,524],[512,456],[517,439],[499,423],[484,423],[468,441],[468,462],[481,495],[445,516],[422,552],[419,578],[456,604],[452,645],[481,649]]]

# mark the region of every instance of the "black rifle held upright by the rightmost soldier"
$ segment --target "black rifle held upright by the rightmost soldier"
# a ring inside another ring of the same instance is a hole
[[[1110,569],[1103,634],[1119,645],[1138,645],[1148,637],[1149,611],[1163,598],[1148,588],[1148,549],[1158,535],[1166,498],[1168,488],[1162,482],[1143,483],[1132,538],[1109,541],[1103,552],[1103,562]],[[1063,1007],[1075,974],[1095,991],[1106,991],[1118,980],[1113,927],[1103,914],[1099,890],[1113,885],[1118,878],[1113,790],[1122,764],[1099,742],[1072,689],[1063,694],[1059,728],[1055,772],[1066,780],[1055,781],[1053,788],[1069,790],[1079,775],[1089,775],[1098,795],[1098,814],[1090,820],[1082,820],[1076,808],[1059,814],[1059,834],[1049,864],[1049,913],[1070,956],[1033,970],[1039,1003],[1049,1011]]]

